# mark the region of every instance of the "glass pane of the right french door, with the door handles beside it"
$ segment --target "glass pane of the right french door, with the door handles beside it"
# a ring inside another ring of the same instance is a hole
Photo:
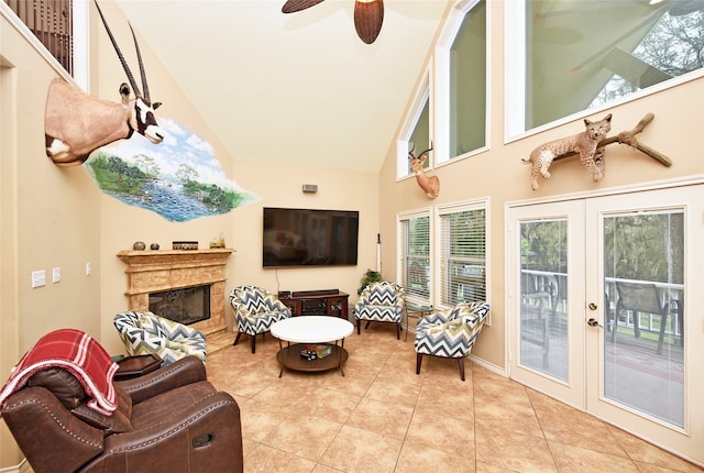
[[[684,426],[684,213],[604,218],[604,396]]]

